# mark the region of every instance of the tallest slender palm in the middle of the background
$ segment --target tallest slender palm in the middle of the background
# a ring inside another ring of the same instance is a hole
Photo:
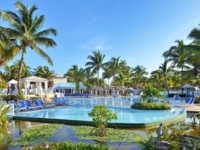
[[[103,60],[105,58],[105,55],[101,54],[100,51],[92,52],[93,55],[89,55],[87,59],[89,59],[89,62],[86,62],[86,66],[89,66],[90,69],[93,69],[93,72],[97,73],[97,81],[99,86],[99,70],[102,68],[104,69],[109,63],[103,63]]]

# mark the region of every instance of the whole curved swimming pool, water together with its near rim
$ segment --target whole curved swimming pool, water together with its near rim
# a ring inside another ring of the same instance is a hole
[[[15,114],[14,119],[27,121],[53,121],[66,124],[91,125],[92,118],[88,113],[93,106],[68,105],[51,109],[41,109]],[[131,108],[108,107],[116,112],[118,119],[111,123],[119,127],[144,127],[159,124],[161,122],[178,121],[186,117],[184,109],[172,110],[134,110]]]

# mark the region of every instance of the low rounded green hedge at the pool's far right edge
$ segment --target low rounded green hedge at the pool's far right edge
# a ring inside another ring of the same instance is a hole
[[[170,110],[170,106],[168,104],[147,103],[147,102],[138,102],[132,104],[131,108],[142,109],[142,110]]]

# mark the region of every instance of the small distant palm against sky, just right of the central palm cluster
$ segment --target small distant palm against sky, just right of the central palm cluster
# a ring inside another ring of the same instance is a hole
[[[143,66],[136,66],[132,69],[133,76],[137,81],[137,85],[140,84],[140,81],[143,79],[145,75],[148,75],[148,72],[146,71],[146,68]]]

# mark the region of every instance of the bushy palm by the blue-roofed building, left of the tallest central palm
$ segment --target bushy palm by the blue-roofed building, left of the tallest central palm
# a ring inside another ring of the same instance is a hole
[[[73,65],[66,74],[64,74],[64,77],[71,78],[76,83],[76,91],[79,91],[79,83],[84,81],[84,69],[78,68],[77,65]]]

